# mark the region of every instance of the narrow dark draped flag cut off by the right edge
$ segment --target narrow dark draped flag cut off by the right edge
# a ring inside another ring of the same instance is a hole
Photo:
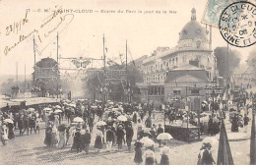
[[[250,164],[256,165],[256,140],[255,140],[255,114],[252,117],[251,126],[251,145],[250,145]]]

